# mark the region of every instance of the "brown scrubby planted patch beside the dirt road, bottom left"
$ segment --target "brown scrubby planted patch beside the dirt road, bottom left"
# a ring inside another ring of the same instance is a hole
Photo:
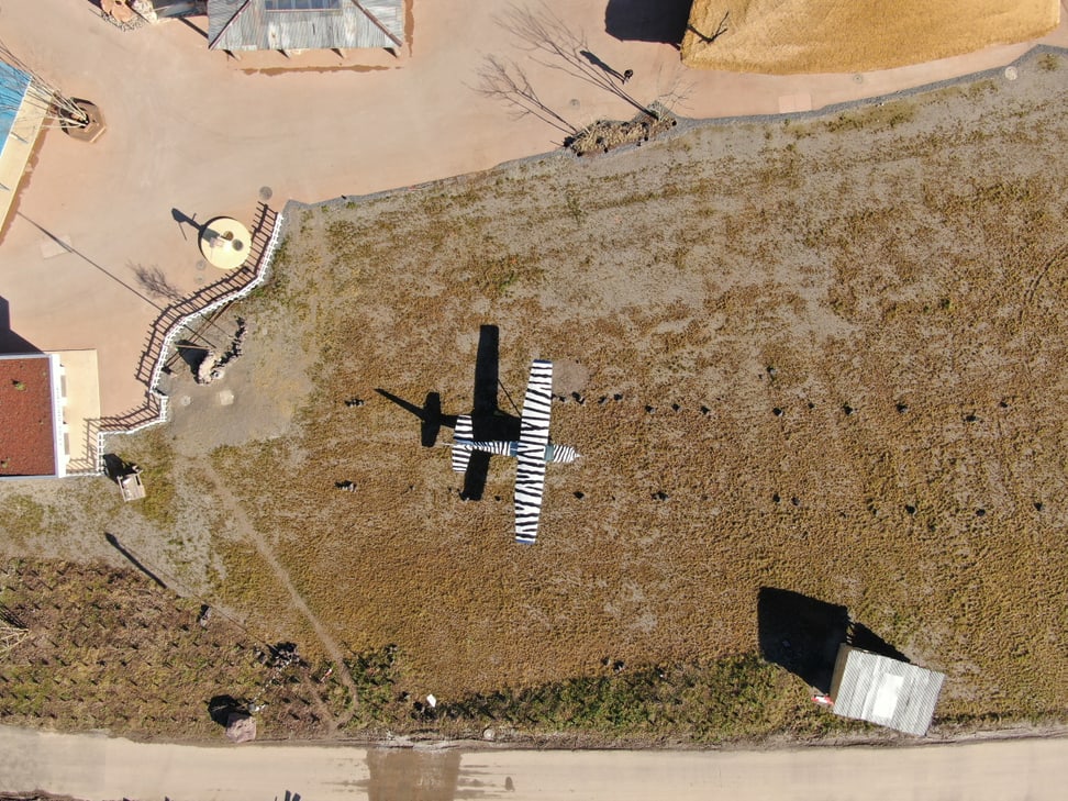
[[[272,670],[268,644],[218,612],[201,626],[198,601],[132,570],[22,559],[0,569],[0,586],[5,619],[29,632],[0,661],[7,724],[218,737],[209,708],[230,697],[267,703],[262,736],[310,737],[325,731],[329,704],[344,705],[333,682],[308,667]]]

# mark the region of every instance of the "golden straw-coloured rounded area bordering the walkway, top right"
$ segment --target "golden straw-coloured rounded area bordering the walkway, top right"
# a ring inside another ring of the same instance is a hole
[[[682,60],[739,73],[866,73],[1027,42],[1059,20],[1059,0],[696,0]]]

